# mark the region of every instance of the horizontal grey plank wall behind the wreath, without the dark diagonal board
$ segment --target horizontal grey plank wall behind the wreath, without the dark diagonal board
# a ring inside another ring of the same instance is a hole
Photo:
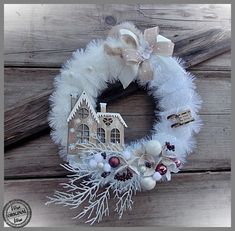
[[[141,30],[158,25],[174,42],[202,28],[230,29],[230,19],[229,5],[6,5],[5,111],[50,91],[71,53],[91,39],[105,38],[117,23],[131,21]],[[137,194],[123,219],[111,213],[98,226],[230,226],[230,52],[189,71],[197,76],[204,100],[197,149],[170,183]],[[123,115],[128,141],[151,129],[153,104],[143,91],[115,100],[108,110]],[[57,153],[47,127],[6,148],[5,203],[15,198],[28,202],[33,212],[28,226],[85,225],[71,219],[78,210],[44,205],[46,196],[66,181]]]

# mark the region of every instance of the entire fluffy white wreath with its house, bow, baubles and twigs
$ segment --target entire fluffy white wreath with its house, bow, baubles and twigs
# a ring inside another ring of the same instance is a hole
[[[195,147],[202,101],[195,77],[172,57],[173,48],[158,27],[142,33],[122,23],[105,40],[74,52],[55,79],[49,116],[52,139],[67,162],[63,167],[73,175],[62,184],[65,192],[56,191],[47,204],[83,206],[76,218],[94,224],[109,214],[112,199],[121,218],[137,192],[153,190],[180,170]],[[108,112],[105,103],[96,111],[96,101],[108,83],[126,88],[135,80],[161,111],[151,136],[125,143],[123,117]]]

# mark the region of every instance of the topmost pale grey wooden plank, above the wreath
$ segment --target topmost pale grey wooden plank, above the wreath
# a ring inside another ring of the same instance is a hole
[[[173,42],[198,29],[231,27],[230,6],[222,4],[7,5],[4,19],[7,66],[59,67],[74,50],[105,38],[123,21],[141,30],[158,25]]]

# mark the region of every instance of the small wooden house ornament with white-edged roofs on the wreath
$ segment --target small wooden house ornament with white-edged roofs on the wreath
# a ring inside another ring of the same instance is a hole
[[[124,145],[127,125],[122,116],[106,112],[106,103],[100,103],[100,108],[100,112],[95,111],[85,91],[79,98],[71,96],[71,112],[67,119],[69,155],[79,154],[79,147],[87,143]]]

